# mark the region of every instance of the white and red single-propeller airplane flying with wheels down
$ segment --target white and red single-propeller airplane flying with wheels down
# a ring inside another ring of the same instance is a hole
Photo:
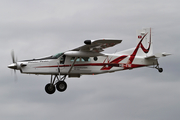
[[[31,60],[15,61],[8,68],[20,70],[24,74],[51,75],[50,83],[45,86],[48,94],[56,89],[63,92],[67,88],[66,77],[81,77],[115,71],[152,66],[159,72],[158,58],[170,55],[168,53],[153,54],[151,28],[137,31],[137,46],[114,54],[102,53],[104,49],[113,47],[122,40],[99,39],[85,40],[85,45],[58,53],[49,57]]]

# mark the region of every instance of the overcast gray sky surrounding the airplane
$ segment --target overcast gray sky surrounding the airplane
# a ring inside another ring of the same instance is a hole
[[[0,116],[3,120],[179,120],[179,0],[0,0]],[[64,93],[48,95],[50,76],[7,68],[18,60],[79,47],[86,39],[123,39],[106,52],[136,45],[136,30],[152,27],[163,73],[141,68],[66,79]]]

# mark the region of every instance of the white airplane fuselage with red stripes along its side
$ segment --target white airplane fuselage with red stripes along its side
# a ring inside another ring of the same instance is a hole
[[[64,55],[65,56],[65,55]],[[26,74],[59,74],[61,75],[92,75],[102,74],[107,72],[115,72],[126,69],[133,69],[137,67],[156,65],[156,59],[144,59],[136,56],[132,64],[127,64],[130,55],[121,54],[104,54],[96,57],[78,57],[75,61],[72,70],[69,72],[73,64],[71,56],[62,56],[58,59],[34,59],[18,62],[18,64],[26,64],[21,67],[21,72]]]

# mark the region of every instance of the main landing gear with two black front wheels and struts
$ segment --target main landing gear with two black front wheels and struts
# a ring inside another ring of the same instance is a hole
[[[51,82],[48,83],[45,86],[45,91],[48,94],[53,94],[56,89],[59,92],[64,92],[67,89],[67,84],[64,81],[66,79],[66,75],[64,75],[63,77],[58,77],[58,75],[55,75],[53,78],[53,75],[51,75]]]

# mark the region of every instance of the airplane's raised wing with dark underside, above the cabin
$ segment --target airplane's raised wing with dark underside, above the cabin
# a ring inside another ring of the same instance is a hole
[[[99,52],[104,51],[105,48],[113,47],[121,42],[122,42],[122,40],[112,40],[112,39],[86,40],[86,41],[84,41],[84,43],[86,45],[75,48],[71,51],[99,53]]]

